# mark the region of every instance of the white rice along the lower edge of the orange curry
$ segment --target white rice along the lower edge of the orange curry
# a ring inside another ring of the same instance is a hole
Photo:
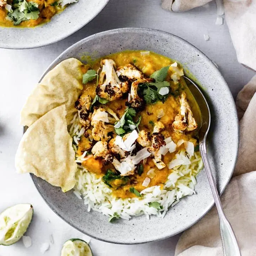
[[[71,123],[69,133],[73,137],[73,148],[77,151],[78,141],[84,133],[84,128],[81,127],[77,115]],[[184,150],[177,153],[185,156]],[[142,214],[145,214],[148,219],[151,214],[164,218],[169,207],[175,206],[182,197],[196,193],[194,191],[197,183],[195,177],[203,167],[201,156],[194,152],[190,158],[190,164],[174,167],[162,189],[160,186],[152,186],[140,192],[142,197],[117,198],[112,195],[111,188],[101,178],[97,178],[95,174],[79,164],[87,157],[91,156],[86,156],[86,153],[81,156],[76,155],[78,171],[74,194],[79,199],[84,199],[88,212],[92,209],[108,217],[116,213],[126,220],[129,220],[131,216]],[[162,209],[150,207],[151,202],[158,202]]]

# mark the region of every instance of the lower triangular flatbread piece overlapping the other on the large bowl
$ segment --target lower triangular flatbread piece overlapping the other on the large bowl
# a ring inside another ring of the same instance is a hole
[[[75,151],[67,130],[65,105],[50,110],[23,135],[15,156],[18,173],[31,172],[63,192],[75,186]]]

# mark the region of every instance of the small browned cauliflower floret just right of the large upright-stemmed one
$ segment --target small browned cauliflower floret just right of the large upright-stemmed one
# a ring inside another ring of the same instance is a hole
[[[135,81],[139,79],[144,79],[144,75],[140,72],[134,65],[128,64],[126,66],[120,66],[117,68],[117,76],[122,81]]]

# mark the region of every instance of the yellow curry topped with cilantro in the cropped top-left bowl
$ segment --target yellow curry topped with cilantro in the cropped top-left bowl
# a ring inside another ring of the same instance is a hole
[[[69,3],[65,0],[0,0],[0,26],[35,27],[50,21]]]

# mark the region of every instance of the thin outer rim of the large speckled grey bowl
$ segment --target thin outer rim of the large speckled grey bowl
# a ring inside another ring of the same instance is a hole
[[[106,34],[107,34],[107,35],[110,35],[110,34],[121,33],[121,32],[128,32],[128,31],[130,31],[130,30],[133,30],[133,31],[136,31],[136,32],[158,32],[158,33],[163,33],[163,34],[166,34],[166,35],[169,35],[169,36],[171,35],[171,36],[173,36],[173,37],[176,37],[176,38],[179,39],[179,40],[185,41],[185,42],[186,42],[187,44],[189,44],[191,47],[196,48],[199,52],[202,53],[203,58],[207,59],[209,62],[212,62],[212,60],[210,60],[210,59],[209,59],[201,50],[199,50],[197,47],[193,46],[190,42],[186,41],[185,39],[183,39],[183,38],[181,38],[181,37],[178,37],[178,36],[176,36],[176,35],[174,35],[174,34],[172,34],[172,33],[165,32],[165,31],[161,31],[161,30],[155,30],[155,29],[151,29],[151,28],[133,28],[133,27],[129,27],[129,28],[117,28],[117,29],[113,29],[113,30],[107,30],[107,31],[103,31],[103,32],[100,32],[100,33],[92,34],[91,36],[88,36],[88,37],[86,37],[86,38],[84,38],[84,39],[81,39],[81,40],[78,41],[77,43],[75,43],[75,44],[73,44],[72,46],[70,46],[69,48],[67,48],[63,53],[61,53],[61,54],[48,66],[47,70],[43,73],[43,75],[41,76],[41,78],[39,79],[38,82],[41,82],[41,80],[43,79],[43,77],[44,77],[55,65],[57,65],[57,64],[59,63],[59,58],[63,57],[63,55],[65,55],[65,54],[68,53],[71,49],[73,49],[74,47],[80,45],[81,43],[84,43],[84,42],[86,42],[86,41],[88,41],[88,40],[90,40],[90,39],[93,39],[93,38],[97,37],[97,36],[102,36],[102,35],[106,35]],[[236,110],[236,106],[235,106],[235,101],[234,101],[233,95],[231,94],[231,91],[230,91],[230,89],[229,89],[229,86],[228,86],[228,84],[226,83],[226,81],[225,81],[223,75],[220,73],[219,69],[218,69],[214,64],[213,64],[212,67],[213,67],[213,69],[215,69],[216,71],[218,71],[220,77],[222,78],[222,80],[223,80],[225,86],[226,86],[227,89],[228,89],[230,98],[232,99],[232,105],[233,105],[234,109]],[[239,121],[238,121],[237,112],[236,112],[236,117],[235,117],[235,118],[236,118],[236,121],[237,121],[237,122],[236,122],[236,124],[237,124],[237,125],[236,125],[236,128],[238,128],[238,127],[239,127]],[[25,132],[25,130],[26,130],[26,127],[24,128],[24,132]],[[236,165],[236,160],[237,160],[237,158],[238,158],[238,149],[239,149],[239,129],[237,129],[237,130],[238,130],[238,133],[237,133],[237,140],[236,140],[236,148],[237,148],[237,150],[236,150],[236,155],[235,155],[235,161],[234,161],[234,164],[233,164],[233,166],[232,166],[232,172],[230,172],[230,176],[229,176],[229,178],[228,178],[226,184],[223,186],[222,190],[219,191],[219,194],[220,194],[220,195],[222,195],[222,193],[224,192],[226,186],[229,184],[229,181],[230,181],[231,177],[233,176],[233,172],[234,172],[235,165]],[[174,233],[174,234],[172,234],[172,235],[170,235],[170,236],[166,236],[165,238],[153,239],[153,240],[145,241],[145,242],[130,242],[130,243],[114,242],[114,241],[108,241],[108,240],[105,240],[105,239],[99,239],[99,238],[97,238],[97,237],[95,237],[95,236],[93,236],[93,235],[86,234],[86,233],[84,233],[84,231],[82,231],[79,227],[72,225],[72,224],[69,222],[69,220],[66,220],[66,219],[62,216],[62,214],[61,214],[60,212],[57,212],[56,210],[54,210],[53,207],[50,205],[50,203],[48,203],[47,200],[43,197],[42,193],[38,190],[38,187],[37,187],[37,185],[36,185],[36,180],[35,180],[36,176],[33,175],[33,174],[30,174],[30,176],[31,176],[31,178],[32,178],[32,181],[33,181],[33,183],[34,183],[34,185],[35,185],[35,187],[36,187],[38,193],[42,196],[44,202],[46,202],[46,204],[50,207],[50,209],[52,209],[53,212],[54,212],[55,214],[57,214],[62,220],[64,220],[66,223],[68,223],[70,226],[72,226],[72,227],[75,228],[76,230],[80,231],[81,233],[90,236],[91,238],[94,238],[94,239],[96,239],[96,240],[103,241],[103,242],[108,242],[108,243],[111,243],[111,244],[123,244],[123,245],[146,244],[146,243],[149,243],[149,242],[156,242],[156,241],[161,241],[161,240],[170,238],[170,237],[172,237],[172,236],[175,236],[175,235],[177,235],[177,234],[182,233],[183,231],[189,229],[191,226],[193,226],[194,224],[196,224],[199,220],[201,220],[201,219],[204,217],[204,215],[206,215],[206,214],[209,212],[210,209],[212,209],[212,207],[213,207],[214,204],[215,204],[214,199],[212,198],[212,202],[209,204],[209,206],[205,209],[205,211],[201,214],[201,216],[198,217],[198,219],[197,219],[195,222],[191,223],[191,224],[188,225],[186,228],[183,228],[183,229],[181,229],[181,230],[178,230],[176,233]]]

